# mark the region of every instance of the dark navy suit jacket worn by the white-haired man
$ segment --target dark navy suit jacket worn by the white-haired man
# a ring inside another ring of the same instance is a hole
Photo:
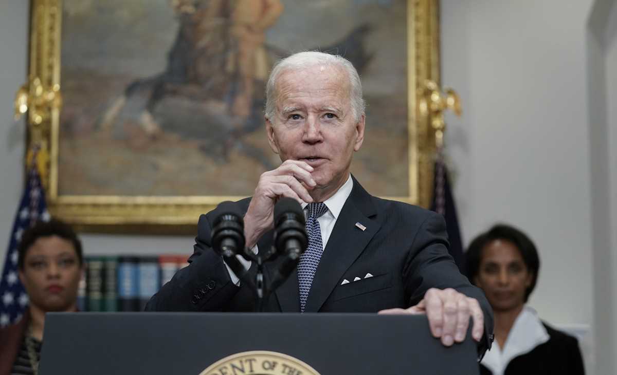
[[[246,212],[250,198],[237,202]],[[254,294],[245,283],[231,282],[222,258],[211,247],[216,210],[201,215],[189,266],[178,271],[148,303],[147,311],[254,311]],[[365,230],[355,224],[360,223]],[[273,231],[257,242],[270,249]],[[431,287],[453,288],[477,299],[484,311],[485,334],[479,348],[490,347],[493,316],[481,289],[472,286],[450,257],[443,216],[413,205],[371,196],[354,178],[354,187],[336,220],[315,273],[305,312],[376,312],[407,308]],[[283,258],[283,257],[279,257]],[[280,260],[280,259],[279,259]],[[266,263],[265,277],[278,263]],[[249,272],[254,272],[252,266]],[[365,278],[366,274],[373,275]],[[354,281],[355,278],[360,278]],[[344,279],[349,283],[342,284]],[[270,297],[267,311],[299,312],[297,273]]]

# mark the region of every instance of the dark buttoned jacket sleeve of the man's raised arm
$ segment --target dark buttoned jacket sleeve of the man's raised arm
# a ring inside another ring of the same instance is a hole
[[[152,296],[146,311],[222,311],[236,295],[223,258],[212,250],[213,212],[199,217],[194,252],[189,265],[176,272],[172,280]]]

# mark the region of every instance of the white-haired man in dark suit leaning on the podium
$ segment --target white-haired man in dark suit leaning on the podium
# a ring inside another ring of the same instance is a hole
[[[263,173],[251,199],[236,203],[245,212],[247,246],[270,249],[280,197],[302,202],[309,232],[297,272],[267,310],[426,313],[444,345],[465,339],[471,317],[481,353],[490,347],[491,308],[448,254],[442,216],[371,196],[350,175],[364,139],[365,104],[349,61],[321,52],[292,55],[273,69],[266,96],[268,141],[283,163]],[[254,309],[252,291],[212,250],[216,216],[216,210],[201,216],[191,264],[146,310]],[[267,266],[266,276],[276,266]]]

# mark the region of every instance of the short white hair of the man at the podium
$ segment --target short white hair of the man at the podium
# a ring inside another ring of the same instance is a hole
[[[352,114],[356,122],[360,121],[360,117],[364,115],[365,102],[362,98],[362,83],[360,76],[349,60],[342,56],[326,54],[324,52],[308,51],[298,52],[276,63],[268,83],[266,85],[266,107],[265,116],[271,122],[273,121],[276,110],[276,80],[281,73],[287,70],[299,70],[301,68],[314,67],[315,65],[330,65],[343,68],[349,76]]]

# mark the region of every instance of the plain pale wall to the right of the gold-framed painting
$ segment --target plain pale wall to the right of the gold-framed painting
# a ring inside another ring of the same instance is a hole
[[[613,2],[442,0],[442,81],[464,112],[447,119],[464,241],[495,221],[534,239],[542,266],[529,304],[584,333],[590,374],[616,368]],[[598,7],[603,22],[590,21]],[[593,43],[592,28],[611,27]]]

